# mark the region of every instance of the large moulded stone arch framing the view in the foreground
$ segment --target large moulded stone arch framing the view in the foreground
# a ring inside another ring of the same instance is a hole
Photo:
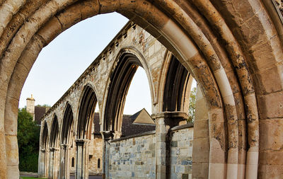
[[[282,175],[283,161],[273,159],[283,144],[282,22],[270,1],[0,4],[0,178],[18,178],[18,99],[42,47],[71,25],[112,11],[148,30],[200,84],[209,112],[209,178]]]

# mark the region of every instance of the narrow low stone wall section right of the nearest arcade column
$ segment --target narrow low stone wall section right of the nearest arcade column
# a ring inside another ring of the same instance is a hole
[[[182,125],[171,129],[171,178],[192,178],[193,132],[192,125]]]

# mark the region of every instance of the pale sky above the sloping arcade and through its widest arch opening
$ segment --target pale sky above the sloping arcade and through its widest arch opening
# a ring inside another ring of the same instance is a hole
[[[23,86],[19,108],[25,107],[26,98],[31,94],[35,105],[54,105],[127,21],[119,13],[103,14],[88,18],[56,37],[42,49],[33,64]],[[129,87],[124,114],[134,114],[142,108],[151,113],[149,84],[144,70],[139,68]]]

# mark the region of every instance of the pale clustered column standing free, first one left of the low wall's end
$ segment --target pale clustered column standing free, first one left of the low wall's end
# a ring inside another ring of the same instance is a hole
[[[76,139],[76,179],[88,178],[88,139]]]

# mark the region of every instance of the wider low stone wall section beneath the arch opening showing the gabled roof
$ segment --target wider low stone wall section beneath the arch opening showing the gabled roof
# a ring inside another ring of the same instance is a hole
[[[109,178],[156,178],[155,132],[110,142]]]

